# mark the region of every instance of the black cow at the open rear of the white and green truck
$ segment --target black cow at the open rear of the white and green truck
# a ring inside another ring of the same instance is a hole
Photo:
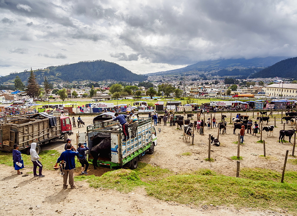
[[[98,167],[97,160],[101,158],[110,159],[111,153],[111,139],[110,134],[99,132],[97,135],[90,137],[92,148],[90,154],[93,156],[94,169]]]

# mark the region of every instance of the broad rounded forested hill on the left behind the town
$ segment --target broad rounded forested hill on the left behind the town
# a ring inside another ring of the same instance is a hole
[[[61,80],[72,82],[80,80],[103,81],[115,80],[125,82],[142,82],[147,79],[145,75],[132,73],[126,68],[105,60],[84,61],[68,65],[49,66],[42,70],[34,71],[39,84],[43,82],[46,76],[50,82],[60,82]],[[23,82],[26,82],[30,71],[14,73],[0,77],[0,83],[11,82],[16,76],[19,76]]]

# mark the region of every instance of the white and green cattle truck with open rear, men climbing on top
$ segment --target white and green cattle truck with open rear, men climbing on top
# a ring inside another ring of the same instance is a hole
[[[123,142],[122,128],[119,122],[111,120],[102,121],[87,126],[88,147],[93,147],[92,138],[98,132],[110,134],[111,151],[108,158],[98,158],[98,165],[113,167],[129,166],[135,169],[138,166],[138,159],[144,154],[153,154],[154,147],[157,145],[157,134],[152,125],[151,118],[138,118],[137,136]],[[132,125],[128,127],[131,134]],[[88,160],[92,161],[93,157],[88,154]]]

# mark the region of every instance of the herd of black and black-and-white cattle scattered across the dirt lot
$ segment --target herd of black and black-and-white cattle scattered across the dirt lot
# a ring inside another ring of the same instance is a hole
[[[262,122],[267,122],[266,125],[269,123],[269,117],[267,117],[267,112],[259,112],[257,113],[258,117],[257,120],[259,120],[259,123]],[[260,116],[259,116],[260,114]],[[263,115],[266,115],[265,117]],[[192,137],[193,134],[193,126],[194,129],[196,130],[197,128],[197,121],[194,121],[194,123],[190,123],[189,118],[192,119],[194,115],[193,114],[187,114],[187,120],[183,120],[184,116],[181,115],[176,115],[176,120],[174,121],[175,124],[178,124],[179,129],[183,129],[183,139],[185,137],[186,142],[189,139],[189,137]],[[218,123],[218,128],[219,128],[219,133],[221,133],[221,130],[223,129],[223,132],[226,133],[226,127],[227,127],[227,122],[225,121],[225,118],[227,118],[226,115],[222,115],[222,121]],[[158,117],[159,123],[161,123],[163,119],[163,116]],[[286,123],[289,121],[291,122],[291,127],[293,128],[294,125],[297,124],[297,112],[286,112],[286,116],[283,117],[282,119],[286,120]],[[247,122],[249,121],[249,116],[248,115],[241,115],[238,118],[232,118],[232,124],[233,124],[233,134],[235,133],[236,129],[241,129],[241,126],[244,126],[244,129],[246,130],[248,125]],[[204,126],[206,126],[206,123],[204,122]],[[260,129],[260,128],[259,128]],[[270,132],[269,136],[272,133],[273,136],[273,131],[274,131],[274,126],[264,126],[262,128],[262,131],[267,133],[268,137],[268,132]],[[294,135],[296,130],[280,130],[279,131],[279,143],[282,141],[285,136],[289,137],[289,142],[291,143],[291,137]],[[189,139],[190,140],[190,139]],[[190,141],[189,141],[190,142]],[[219,140],[216,137],[211,137],[211,145],[219,146]]]

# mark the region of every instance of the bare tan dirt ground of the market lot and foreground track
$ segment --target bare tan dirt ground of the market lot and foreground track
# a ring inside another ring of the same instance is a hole
[[[247,114],[252,117],[252,113]],[[235,115],[236,113],[232,113],[232,117]],[[217,120],[220,120],[220,116],[220,113],[216,114]],[[85,126],[79,129],[73,128],[73,132],[85,132],[86,126],[92,123],[93,118],[94,116],[82,116]],[[252,120],[255,121],[255,118]],[[229,123],[230,113],[227,114],[226,121]],[[268,125],[274,125],[274,121],[271,119]],[[161,132],[157,134],[158,145],[155,147],[155,152],[152,155],[143,156],[141,162],[168,168],[176,173],[208,168],[226,176],[236,176],[236,161],[231,160],[230,157],[237,155],[237,144],[232,142],[237,141],[239,129],[236,130],[235,135],[232,125],[228,124],[227,133],[219,136],[221,145],[211,146],[211,158],[215,161],[206,162],[204,159],[208,157],[208,134],[217,137],[216,128],[208,130],[206,127],[205,135],[200,135],[196,131],[195,145],[182,140],[182,131],[176,129],[176,126],[170,127],[169,124],[163,126],[162,122],[157,128],[161,128]],[[286,125],[286,129],[289,128],[290,126]],[[263,144],[256,143],[260,139],[260,134],[257,136],[246,134],[245,145],[240,146],[240,156],[243,157],[241,168],[260,167],[281,171],[286,150],[292,154],[293,146],[290,143],[278,143],[280,129],[283,129],[283,126],[280,120],[277,120],[274,136],[266,137],[266,133],[263,134],[263,140],[266,141],[266,156],[269,156],[269,159],[259,157],[263,155]],[[76,144],[75,134],[70,138],[73,139],[72,143]],[[42,150],[48,149],[62,152],[64,141],[55,141],[42,147]],[[185,152],[192,154],[183,156]],[[90,165],[88,173],[101,175],[108,170],[108,168],[99,168],[95,172]],[[296,170],[296,167],[288,163],[286,170]],[[23,169],[23,173],[30,171],[32,170],[29,168]],[[0,166],[0,173],[0,215],[52,215],[57,213],[62,215],[287,215],[286,212],[237,209],[226,206],[208,206],[208,208],[192,206],[191,208],[191,206],[151,198],[146,195],[143,188],[124,194],[115,190],[89,188],[88,183],[84,181],[76,182],[77,187],[73,190],[64,190],[62,189],[62,177],[58,171],[54,170],[45,171],[43,174],[46,177],[41,179],[33,178],[33,174],[25,177],[16,175],[12,167],[5,165]],[[76,174],[79,173],[80,167],[76,170]],[[282,210],[279,209],[279,211]]]

